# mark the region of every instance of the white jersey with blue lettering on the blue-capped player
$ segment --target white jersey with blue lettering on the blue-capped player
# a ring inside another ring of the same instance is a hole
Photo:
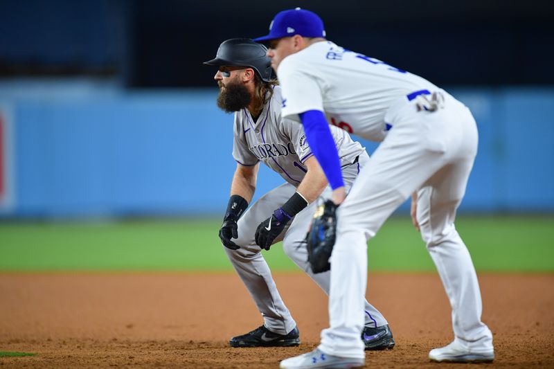
[[[345,50],[333,42],[316,42],[279,64],[283,116],[324,111],[328,121],[372,141],[387,132],[385,112],[431,82],[373,57]]]

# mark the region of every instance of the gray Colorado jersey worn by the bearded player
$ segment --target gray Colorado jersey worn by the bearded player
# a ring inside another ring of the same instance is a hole
[[[281,118],[282,99],[281,87],[274,87],[271,100],[256,122],[248,109],[235,113],[233,157],[242,165],[256,165],[262,161],[296,187],[307,172],[304,162],[313,154],[302,125]],[[331,128],[341,165],[351,164],[364,152],[364,147],[352,141],[342,129]]]

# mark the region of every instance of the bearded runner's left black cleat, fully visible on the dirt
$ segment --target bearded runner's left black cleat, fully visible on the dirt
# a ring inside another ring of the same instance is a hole
[[[300,345],[300,334],[298,327],[288,334],[278,334],[268,330],[265,325],[256,328],[252,332],[236,336],[229,340],[229,345],[232,348],[258,348],[270,346],[298,346]]]

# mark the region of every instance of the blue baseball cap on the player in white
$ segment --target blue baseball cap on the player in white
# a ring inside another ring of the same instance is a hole
[[[254,39],[256,42],[301,35],[303,37],[325,37],[323,21],[310,10],[301,8],[278,12],[269,24],[269,35]]]

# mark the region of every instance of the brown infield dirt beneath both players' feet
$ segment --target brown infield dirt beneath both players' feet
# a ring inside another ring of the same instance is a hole
[[[328,326],[327,298],[303,273],[276,274],[301,332],[298,348],[230,348],[262,324],[234,273],[0,274],[0,368],[278,368],[308,352]],[[386,316],[394,350],[366,352],[366,368],[554,368],[554,274],[480,274],[490,364],[431,363],[452,341],[436,274],[370,273],[368,299]]]

